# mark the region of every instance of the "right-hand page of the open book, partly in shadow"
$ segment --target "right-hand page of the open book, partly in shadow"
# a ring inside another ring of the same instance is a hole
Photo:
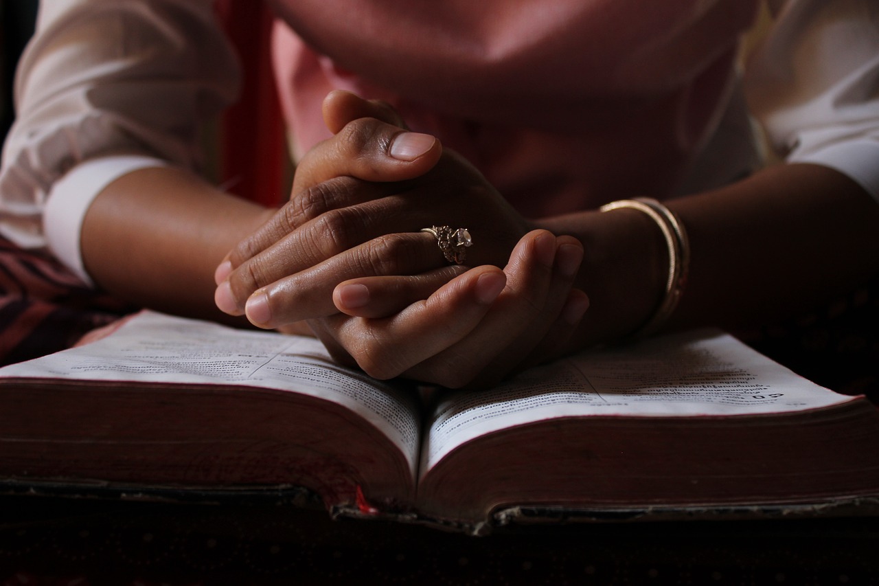
[[[422,475],[462,443],[532,421],[770,414],[850,399],[799,377],[730,335],[675,334],[527,370],[490,391],[450,392],[432,417]]]

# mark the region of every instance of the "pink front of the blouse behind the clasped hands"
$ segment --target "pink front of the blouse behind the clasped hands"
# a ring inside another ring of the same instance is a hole
[[[320,101],[385,99],[526,216],[672,194],[716,129],[756,0],[275,0],[297,150]],[[343,10],[345,18],[326,18]],[[352,73],[356,71],[357,73]],[[737,172],[745,172],[739,168]]]

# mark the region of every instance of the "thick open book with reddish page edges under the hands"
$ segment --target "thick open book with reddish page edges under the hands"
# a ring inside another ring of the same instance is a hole
[[[334,513],[472,532],[879,502],[876,407],[713,331],[425,392],[309,338],[145,311],[0,369],[0,454],[7,489],[306,487]]]

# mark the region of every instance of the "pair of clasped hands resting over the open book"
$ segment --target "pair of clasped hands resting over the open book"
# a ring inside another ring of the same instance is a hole
[[[323,117],[333,136],[302,158],[290,201],[217,267],[222,311],[307,323],[341,363],[448,387],[492,385],[563,348],[588,306],[578,239],[534,230],[389,106],[332,92]],[[465,266],[420,231],[434,225],[469,228]]]

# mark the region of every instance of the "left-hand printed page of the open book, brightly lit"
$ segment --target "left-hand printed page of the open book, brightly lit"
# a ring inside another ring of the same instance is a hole
[[[396,443],[413,474],[420,414],[414,392],[346,369],[313,338],[255,332],[142,311],[109,336],[12,364],[0,377],[244,385],[327,399],[370,421]]]

